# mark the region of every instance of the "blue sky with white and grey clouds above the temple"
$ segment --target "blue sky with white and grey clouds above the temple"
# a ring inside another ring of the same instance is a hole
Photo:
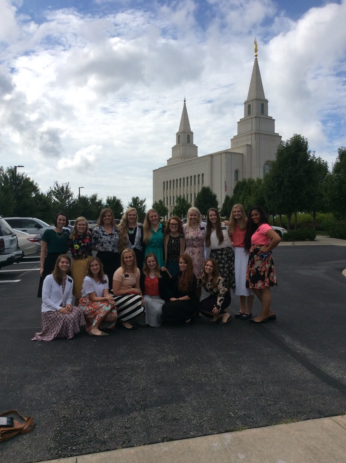
[[[152,204],[186,96],[199,156],[230,147],[253,42],[269,115],[331,167],[346,145],[346,0],[0,0],[0,165],[47,191]]]

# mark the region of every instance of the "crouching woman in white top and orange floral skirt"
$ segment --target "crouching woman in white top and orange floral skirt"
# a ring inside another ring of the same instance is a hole
[[[82,298],[79,307],[87,320],[89,336],[108,336],[100,330],[100,323],[114,328],[117,320],[117,308],[108,290],[108,277],[103,273],[103,265],[98,257],[90,257],[87,262],[86,276],[82,286]]]

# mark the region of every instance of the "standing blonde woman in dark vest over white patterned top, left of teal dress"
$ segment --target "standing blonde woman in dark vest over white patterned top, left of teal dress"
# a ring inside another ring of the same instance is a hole
[[[124,249],[133,249],[137,266],[141,269],[143,264],[143,227],[142,224],[138,223],[137,210],[134,207],[126,209],[118,230],[119,252],[121,253]]]

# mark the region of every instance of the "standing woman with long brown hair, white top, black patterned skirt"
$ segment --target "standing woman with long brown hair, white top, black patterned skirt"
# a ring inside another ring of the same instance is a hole
[[[207,213],[206,246],[210,248],[210,257],[217,262],[226,288],[233,289],[235,277],[232,242],[228,235],[228,225],[221,222],[219,211],[214,207]]]

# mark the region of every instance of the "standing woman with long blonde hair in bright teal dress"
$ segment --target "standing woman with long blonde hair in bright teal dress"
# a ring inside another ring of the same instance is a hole
[[[144,255],[153,252],[159,268],[164,267],[164,227],[159,222],[158,212],[149,209],[143,223]]]

